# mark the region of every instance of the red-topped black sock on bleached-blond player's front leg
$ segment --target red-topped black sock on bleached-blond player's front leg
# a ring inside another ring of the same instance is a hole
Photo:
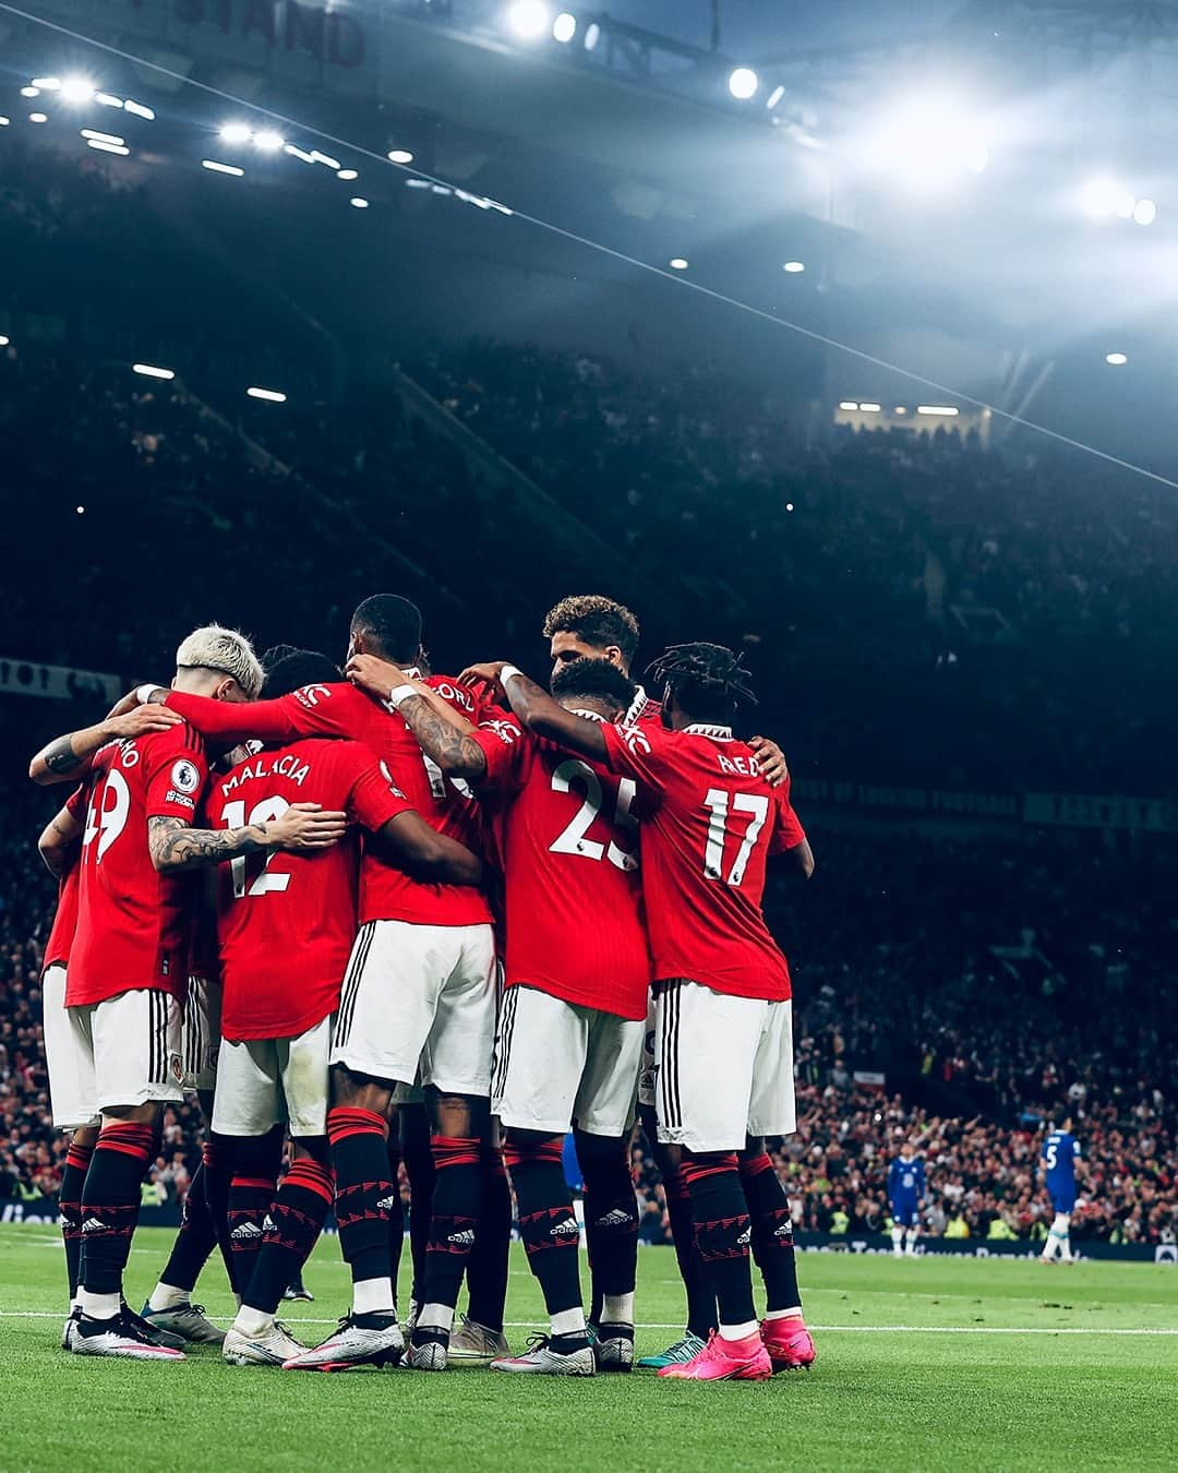
[[[85,1296],[109,1299],[122,1293],[122,1273],[138,1223],[140,1183],[152,1159],[153,1140],[152,1125],[131,1121],[103,1125],[99,1131],[82,1184],[80,1289],[84,1308]]]

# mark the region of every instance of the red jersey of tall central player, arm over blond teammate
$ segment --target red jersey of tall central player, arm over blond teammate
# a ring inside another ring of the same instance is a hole
[[[474,701],[464,686],[443,675],[427,676],[427,685],[470,720],[477,719]],[[218,741],[297,741],[300,736],[350,736],[387,766],[392,781],[426,822],[462,844],[477,846],[479,806],[465,788],[446,778],[430,762],[405,725],[405,717],[371,700],[348,682],[308,685],[275,701],[230,704],[203,695],[174,691],[168,706],[205,736]],[[365,851],[359,881],[359,919],[411,921],[415,925],[480,925],[490,921],[490,907],[471,885],[433,885],[411,879],[403,871]]]

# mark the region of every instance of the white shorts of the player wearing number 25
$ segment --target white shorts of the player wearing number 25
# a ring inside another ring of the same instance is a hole
[[[635,1119],[643,1019],[580,1008],[537,987],[504,993],[490,1108],[504,1125],[624,1136]]]

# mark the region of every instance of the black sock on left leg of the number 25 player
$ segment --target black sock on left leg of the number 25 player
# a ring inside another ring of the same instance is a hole
[[[580,1296],[580,1228],[573,1212],[573,1198],[564,1180],[561,1137],[520,1140],[508,1131],[504,1156],[515,1189],[520,1211],[520,1237],[527,1254],[527,1267],[536,1276],[545,1308],[560,1339],[585,1343],[583,1317],[579,1329]],[[570,1315],[568,1327],[561,1318]],[[554,1339],[558,1336],[554,1333]],[[564,1349],[567,1346],[561,1346]]]

